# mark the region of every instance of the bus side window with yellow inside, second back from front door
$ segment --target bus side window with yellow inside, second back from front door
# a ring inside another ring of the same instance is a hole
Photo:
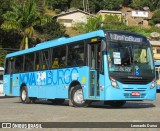
[[[52,50],[52,68],[61,68],[66,66],[66,47],[56,47]]]

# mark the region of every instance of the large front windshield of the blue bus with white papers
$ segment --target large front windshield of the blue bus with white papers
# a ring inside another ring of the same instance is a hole
[[[109,42],[107,57],[110,73],[127,76],[154,76],[149,44]]]

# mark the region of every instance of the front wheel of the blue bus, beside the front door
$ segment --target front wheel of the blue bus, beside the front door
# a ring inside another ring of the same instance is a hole
[[[75,107],[87,107],[89,105],[89,101],[83,100],[83,91],[80,85],[71,90],[70,100]]]

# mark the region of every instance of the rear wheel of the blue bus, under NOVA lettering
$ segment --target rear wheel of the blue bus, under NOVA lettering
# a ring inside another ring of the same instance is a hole
[[[29,99],[28,97],[28,91],[27,91],[27,88],[26,86],[23,86],[21,88],[21,91],[20,91],[20,98],[21,98],[21,102],[24,103],[24,104],[29,104],[31,103],[31,99]]]

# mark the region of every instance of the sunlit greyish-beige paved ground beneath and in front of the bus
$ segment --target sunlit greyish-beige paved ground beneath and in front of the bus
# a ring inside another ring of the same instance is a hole
[[[129,101],[119,109],[102,102],[86,108],[70,107],[68,101],[22,104],[18,97],[0,96],[0,115],[0,122],[160,122],[160,93],[155,101]]]

